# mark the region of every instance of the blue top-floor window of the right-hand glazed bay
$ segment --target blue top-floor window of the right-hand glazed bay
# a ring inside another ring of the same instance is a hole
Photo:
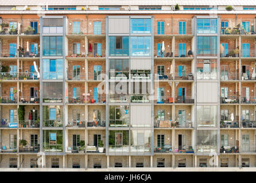
[[[208,18],[197,19],[197,34],[202,33],[217,33],[217,19],[216,18]]]

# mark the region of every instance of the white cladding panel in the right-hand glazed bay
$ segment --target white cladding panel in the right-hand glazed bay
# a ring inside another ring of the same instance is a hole
[[[218,82],[197,82],[197,103],[217,103],[218,92]]]

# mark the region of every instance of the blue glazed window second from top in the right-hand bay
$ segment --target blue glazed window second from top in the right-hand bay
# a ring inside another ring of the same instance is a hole
[[[197,37],[197,55],[217,55],[217,37]]]

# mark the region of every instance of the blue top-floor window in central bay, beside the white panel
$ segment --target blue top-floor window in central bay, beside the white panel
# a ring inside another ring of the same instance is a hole
[[[150,18],[132,18],[131,33],[151,33]]]

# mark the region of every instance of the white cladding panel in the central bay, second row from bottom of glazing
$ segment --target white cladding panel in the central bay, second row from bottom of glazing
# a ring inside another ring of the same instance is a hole
[[[151,105],[131,106],[131,126],[151,126]]]

